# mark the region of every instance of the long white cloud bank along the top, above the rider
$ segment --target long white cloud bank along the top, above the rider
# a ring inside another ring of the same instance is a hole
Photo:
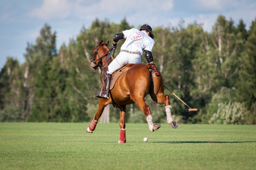
[[[33,18],[63,19],[75,16],[80,19],[108,18],[110,16],[136,15],[143,13],[156,13],[159,11],[170,11],[174,6],[174,0],[43,0],[43,4],[34,8],[31,12]],[[123,16],[122,16],[123,17]]]

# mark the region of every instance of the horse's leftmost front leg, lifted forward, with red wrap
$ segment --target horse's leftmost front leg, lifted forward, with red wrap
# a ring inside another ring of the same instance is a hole
[[[91,121],[90,125],[88,126],[87,130],[85,130],[85,132],[92,133],[93,130],[95,130],[96,125],[97,125],[97,121],[99,120],[99,118],[102,115],[102,112],[103,112],[103,110],[106,106],[107,106],[106,99],[100,98],[98,111],[97,111],[95,117],[92,119],[92,121]]]

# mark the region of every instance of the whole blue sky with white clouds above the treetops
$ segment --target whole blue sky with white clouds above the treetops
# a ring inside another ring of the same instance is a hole
[[[57,47],[76,38],[82,26],[89,28],[95,18],[120,23],[127,18],[132,26],[149,23],[178,26],[203,23],[210,32],[219,15],[232,18],[235,26],[242,19],[246,28],[256,17],[255,0],[1,0],[0,69],[7,57],[21,64],[27,43],[35,44],[39,31],[48,23],[57,32]]]

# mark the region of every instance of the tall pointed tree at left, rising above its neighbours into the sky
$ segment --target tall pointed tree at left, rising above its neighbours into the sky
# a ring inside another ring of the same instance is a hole
[[[55,97],[51,94],[53,89],[50,89],[49,84],[52,79],[48,79],[48,71],[51,68],[51,62],[56,54],[56,33],[51,32],[50,26],[45,24],[40,31],[39,37],[36,39],[36,45],[29,45],[26,50],[26,67],[28,67],[27,91],[28,105],[27,115],[31,115],[30,120],[48,121],[47,110],[50,111],[50,97]],[[55,93],[55,92],[53,92]],[[46,96],[50,96],[47,98]],[[43,101],[46,101],[43,103]],[[48,102],[48,103],[47,103]],[[42,105],[43,103],[43,105]]]

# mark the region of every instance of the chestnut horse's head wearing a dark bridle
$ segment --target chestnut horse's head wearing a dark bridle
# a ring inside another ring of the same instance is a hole
[[[92,71],[95,71],[97,67],[100,67],[100,69],[101,67],[103,67],[103,64],[106,60],[105,57],[107,56],[108,52],[110,52],[107,47],[108,44],[109,42],[103,43],[103,41],[100,41],[97,46],[92,50],[93,55],[90,62],[90,69]]]

